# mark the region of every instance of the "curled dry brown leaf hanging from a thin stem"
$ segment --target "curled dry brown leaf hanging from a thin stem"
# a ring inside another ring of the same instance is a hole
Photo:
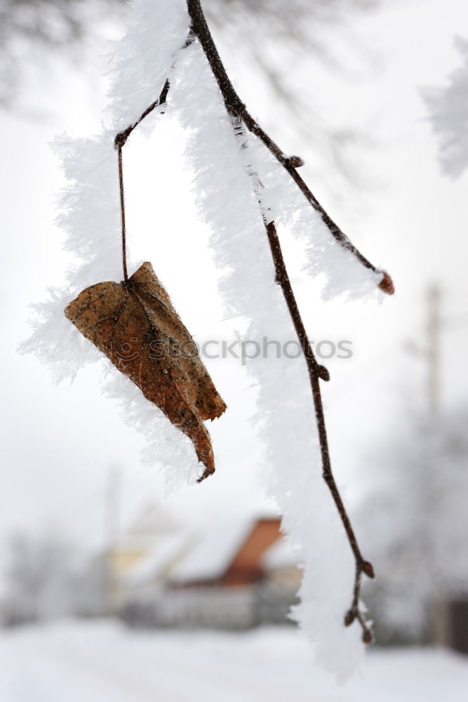
[[[226,405],[151,263],[127,281],[86,288],[65,314],[192,439],[205,465],[199,481],[211,475],[215,461],[203,420],[219,417]]]

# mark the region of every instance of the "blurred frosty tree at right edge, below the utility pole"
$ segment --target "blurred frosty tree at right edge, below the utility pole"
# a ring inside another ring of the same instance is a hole
[[[377,640],[441,642],[441,603],[468,594],[468,408],[400,423],[375,446],[361,519]]]

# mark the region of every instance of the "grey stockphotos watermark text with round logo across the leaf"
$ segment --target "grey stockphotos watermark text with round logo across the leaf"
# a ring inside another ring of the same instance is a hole
[[[120,347],[113,347],[114,355],[122,361],[133,361],[142,354],[142,340],[134,337],[131,343],[124,343]],[[140,343],[139,343],[140,342]],[[312,352],[317,359],[328,360],[330,358],[349,359],[353,357],[352,341],[342,339],[331,341],[322,339],[311,341]],[[145,347],[147,340],[145,340]],[[146,351],[145,351],[146,353]],[[168,358],[185,357],[192,358],[196,355],[208,360],[214,359],[236,359],[240,360],[243,366],[249,360],[259,358],[288,358],[297,359],[302,355],[307,357],[308,350],[304,350],[297,340],[279,341],[270,339],[267,336],[258,339],[208,339],[202,343],[194,340],[179,342],[174,338],[154,339],[149,343],[149,357]]]

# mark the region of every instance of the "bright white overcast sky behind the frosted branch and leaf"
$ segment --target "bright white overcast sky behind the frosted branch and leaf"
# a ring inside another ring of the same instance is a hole
[[[420,86],[443,83],[457,66],[453,36],[468,37],[468,5],[457,0],[387,5],[391,8],[386,11],[361,15],[353,27],[356,46],[367,57],[362,60],[372,64],[366,79],[344,75],[326,81],[323,72],[302,69],[305,86],[334,119],[349,114],[377,142],[363,155],[363,163],[356,164],[366,170],[366,189],[346,192],[337,203],[312,168],[309,183],[354,243],[386,267],[396,284],[396,296],[383,305],[323,305],[316,286],[298,267],[293,270],[312,338],[353,342],[352,360],[328,362],[332,382],[324,395],[335,470],[340,481],[353,483],[355,494],[366,446],[394,427],[396,413],[402,411],[404,417],[413,407],[424,407],[424,364],[404,344],[408,339],[424,343],[424,291],[431,281],[443,286],[446,317],[462,322],[465,315],[465,325],[447,325],[443,336],[443,406],[464,399],[467,392],[468,182],[467,176],[452,183],[440,175]],[[337,53],[345,56],[339,40]],[[102,541],[112,466],[121,475],[121,524],[148,501],[166,501],[180,519],[194,524],[265,506],[251,421],[255,389],[239,364],[208,365],[229,406],[211,428],[217,473],[165,497],[161,477],[140,462],[144,439],[101,396],[100,369],[81,371],[74,385],[57,388],[34,357],[15,353],[29,333],[27,305],[43,300],[48,285],[63,282],[67,263],[62,233],[53,225],[62,176],[48,142],[62,131],[88,135],[98,128],[105,84],[97,76],[103,67],[97,56],[91,79],[90,69],[80,77],[62,68],[55,82],[30,88],[30,106],[48,112],[40,119],[0,117],[0,530],[5,537],[12,529],[57,529],[84,548]],[[274,130],[283,148],[297,150],[281,138],[288,130],[275,125],[274,106],[251,84],[248,70],[239,67],[237,84],[250,110]],[[177,126],[162,118],[150,141],[133,135],[126,147],[131,246],[141,258],[152,260],[196,338],[234,339],[236,322],[223,321],[210,253],[197,244],[201,225],[181,158],[182,140]],[[307,156],[313,159],[312,153]]]

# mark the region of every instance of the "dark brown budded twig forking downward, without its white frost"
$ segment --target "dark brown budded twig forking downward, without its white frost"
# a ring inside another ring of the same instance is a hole
[[[237,95],[236,91],[234,90],[234,87],[232,86],[231,81],[229,80],[229,77],[227,76],[226,70],[224,65],[222,64],[222,61],[220,59],[220,55],[218,53],[218,50],[214,44],[213,38],[211,37],[210,30],[208,28],[208,25],[206,23],[205,16],[203,14],[203,9],[201,8],[201,3],[200,0],[187,0],[187,8],[189,11],[190,18],[192,20],[192,27],[191,27],[191,32],[189,34],[189,37],[187,39],[187,44],[192,43],[195,38],[199,40],[199,43],[201,45],[201,48],[203,49],[203,52],[206,55],[206,58],[208,60],[208,63],[210,65],[210,69],[213,72],[213,75],[218,83],[218,86],[220,88],[220,92],[222,95],[222,98],[224,100],[225,108],[227,110],[227,113],[231,117],[231,123],[232,123],[232,128],[234,130],[234,133],[236,134],[237,137],[243,135],[243,126],[245,126],[248,131],[253,133],[256,137],[258,137],[262,143],[267,147],[269,152],[273,154],[273,156],[276,158],[277,161],[283,166],[283,168],[286,169],[290,177],[293,179],[293,181],[296,183],[297,187],[299,187],[300,191],[305,195],[305,198],[307,201],[309,201],[309,204],[312,205],[312,207],[318,211],[321,215],[321,218],[323,219],[323,222],[326,224],[328,227],[328,230],[330,231],[330,234],[333,235],[333,237],[336,239],[336,241],[347,251],[352,253],[359,262],[365,266],[366,268],[372,270],[373,272],[377,274],[381,274],[382,277],[380,279],[380,282],[378,286],[382,291],[385,293],[392,294],[394,291],[392,279],[389,277],[389,275],[381,270],[378,270],[372,263],[368,261],[367,258],[363,256],[363,254],[356,249],[356,247],[352,244],[351,241],[349,241],[348,237],[342,232],[340,227],[338,227],[335,222],[330,218],[328,213],[323,209],[319,201],[316,199],[312,191],[309,189],[307,184],[305,183],[304,180],[298,175],[297,173],[297,168],[302,166],[303,162],[302,159],[299,157],[287,157],[281,150],[280,148],[274,143],[274,141],[265,133],[265,131],[262,130],[262,128],[258,125],[258,123],[253,119],[253,117],[250,116],[248,110],[246,109],[246,105],[241,102],[239,95]],[[140,124],[140,122],[147,117],[147,115],[152,112],[152,110],[155,109],[157,106],[161,106],[166,102],[166,97],[168,95],[168,90],[169,90],[169,80],[166,79],[166,82],[163,86],[163,89],[161,91],[161,95],[159,96],[158,100],[155,100],[152,102],[147,109],[142,112],[140,117],[133,122],[130,126],[128,126],[126,129],[123,131],[119,132],[116,135],[115,138],[115,147],[118,150],[119,153],[119,183],[120,183],[120,190],[121,190],[121,218],[122,218],[122,251],[123,251],[123,272],[124,272],[124,277],[125,279],[127,278],[127,273],[126,273],[126,241],[125,241],[125,236],[126,236],[126,231],[125,231],[125,211],[124,211],[124,202],[123,202],[123,173],[122,173],[122,147],[125,145],[126,140],[128,136],[132,133],[132,131]],[[241,145],[241,148],[246,147],[246,145]],[[267,233],[268,241],[269,241],[269,249],[272,253],[272,258],[274,262],[274,270],[275,270],[275,280],[281,286],[281,290],[283,292],[284,299],[286,301],[286,305],[288,307],[288,312],[290,314],[290,318],[293,322],[293,326],[295,329],[295,332],[297,334],[297,338],[300,342],[300,345],[302,347],[302,351],[304,352],[306,363],[307,363],[307,370],[309,373],[309,380],[312,388],[312,396],[314,400],[314,410],[315,410],[315,417],[316,417],[316,425],[318,429],[318,434],[319,434],[319,444],[320,444],[320,449],[321,449],[321,461],[322,461],[322,474],[323,474],[323,479],[326,482],[328,489],[330,490],[330,494],[333,497],[333,501],[335,502],[337,511],[340,515],[340,519],[342,521],[343,527],[345,528],[345,532],[347,535],[347,539],[349,541],[349,545],[352,549],[353,555],[354,555],[354,560],[356,564],[356,572],[355,572],[355,578],[354,578],[354,590],[353,590],[353,598],[352,598],[352,605],[350,609],[347,611],[347,614],[345,616],[345,625],[350,625],[353,623],[354,620],[357,620],[359,624],[361,625],[361,628],[363,630],[363,641],[366,643],[370,643],[373,641],[373,633],[370,630],[370,627],[368,623],[366,623],[366,619],[363,616],[363,613],[359,609],[359,597],[360,597],[360,591],[361,591],[361,576],[362,574],[366,574],[369,578],[374,577],[374,572],[373,572],[373,567],[370,562],[366,561],[366,559],[363,558],[363,555],[361,554],[361,550],[359,548],[359,544],[356,539],[356,535],[354,534],[354,529],[352,527],[351,521],[349,519],[349,516],[347,514],[347,510],[345,508],[345,505],[342,501],[342,497],[340,495],[340,491],[337,488],[337,484],[335,482],[335,478],[333,477],[333,471],[331,468],[331,463],[330,463],[330,453],[328,449],[328,439],[327,439],[327,433],[326,433],[326,425],[325,425],[325,417],[323,413],[323,403],[321,399],[321,389],[320,389],[320,380],[329,380],[330,376],[328,374],[328,370],[320,365],[314,356],[314,352],[312,350],[312,345],[309,342],[309,338],[307,336],[307,331],[305,329],[304,322],[302,321],[302,317],[300,314],[299,307],[297,305],[297,301],[295,299],[294,291],[293,288],[290,284],[290,279],[288,276],[288,271],[286,269],[286,263],[283,258],[283,253],[281,251],[281,244],[279,241],[278,233],[276,231],[276,225],[274,222],[274,218],[272,216],[272,213],[269,213],[268,208],[264,206],[262,203],[262,183],[260,181],[260,178],[258,177],[258,174],[255,172],[253,168],[248,168],[248,173],[250,177],[253,180],[253,190],[255,191],[255,195],[259,201],[260,204],[260,210],[262,212],[262,219],[263,223],[265,225],[265,230]]]

